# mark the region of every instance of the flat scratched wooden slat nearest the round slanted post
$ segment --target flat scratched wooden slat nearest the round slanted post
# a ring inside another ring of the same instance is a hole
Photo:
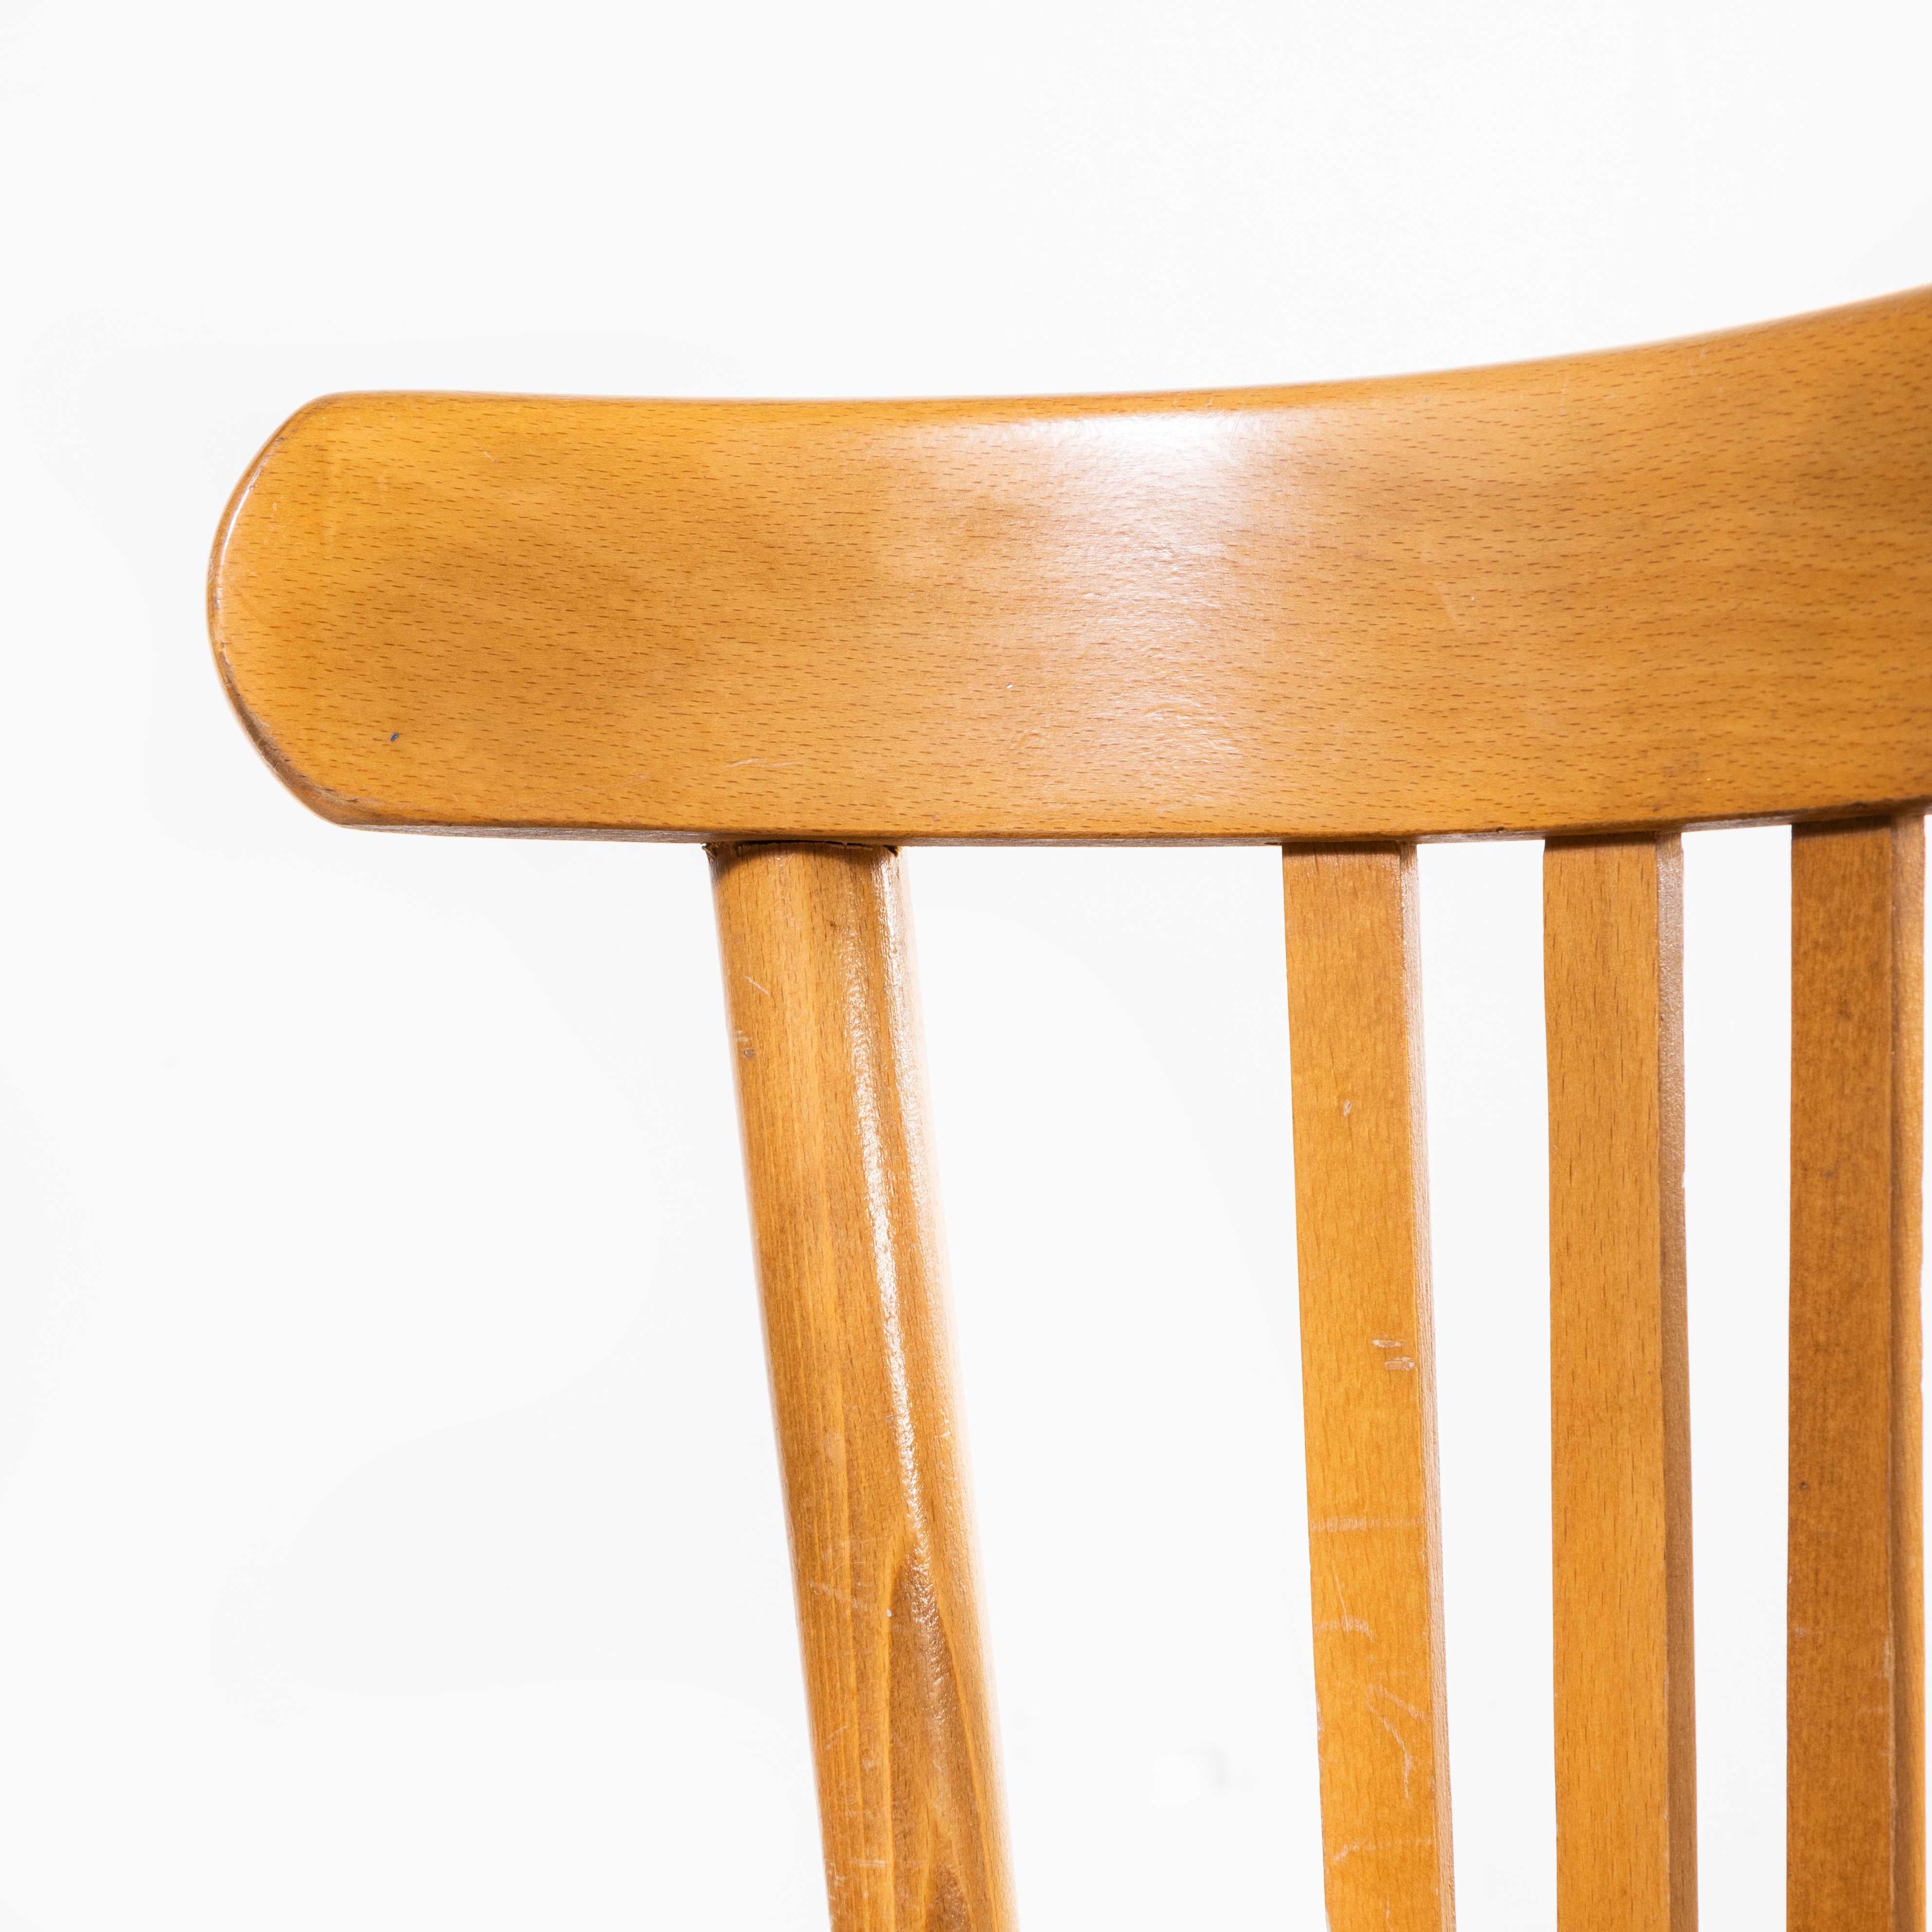
[[[1331,1932],[1449,1932],[1416,854],[1283,854]]]

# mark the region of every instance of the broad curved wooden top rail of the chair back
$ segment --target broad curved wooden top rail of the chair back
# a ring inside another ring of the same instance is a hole
[[[355,825],[1285,840],[1932,796],[1932,292],[1036,402],[336,396],[209,576]]]

